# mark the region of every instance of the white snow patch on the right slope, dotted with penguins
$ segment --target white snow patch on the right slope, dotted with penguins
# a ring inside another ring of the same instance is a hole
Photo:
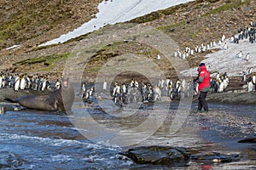
[[[230,42],[227,39],[225,42],[228,44],[228,49],[221,49],[216,53],[207,54],[206,59],[201,62],[207,65],[208,71],[215,72],[218,71],[220,74],[227,72],[228,76],[241,76],[241,72],[249,68],[253,68],[252,71],[256,71],[256,43],[251,43],[248,39],[240,40],[239,44]],[[223,42],[224,46],[224,42]],[[238,58],[237,54],[242,52],[241,58]],[[247,53],[250,54],[250,59],[246,60]],[[184,74],[197,75],[197,68],[191,68],[187,71],[183,71]],[[214,75],[214,74],[212,74]]]

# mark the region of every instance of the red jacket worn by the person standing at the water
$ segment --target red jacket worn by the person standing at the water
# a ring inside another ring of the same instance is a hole
[[[197,69],[199,73],[198,90],[200,92],[208,92],[210,90],[210,73],[207,71],[206,65],[202,65]]]

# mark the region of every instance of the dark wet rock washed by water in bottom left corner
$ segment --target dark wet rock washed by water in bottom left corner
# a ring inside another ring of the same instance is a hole
[[[0,151],[0,168],[15,168],[23,164],[20,156],[9,151]]]

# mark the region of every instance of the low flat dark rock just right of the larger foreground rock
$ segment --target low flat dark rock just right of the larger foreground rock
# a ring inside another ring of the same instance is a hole
[[[210,161],[210,162],[230,162],[238,161],[240,159],[239,154],[225,155],[218,152],[200,153],[190,156],[193,161]]]

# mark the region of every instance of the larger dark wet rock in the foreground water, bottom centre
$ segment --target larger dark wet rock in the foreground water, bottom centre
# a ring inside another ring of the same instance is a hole
[[[169,165],[188,160],[190,153],[183,147],[155,145],[133,148],[120,155],[127,156],[137,164]]]

